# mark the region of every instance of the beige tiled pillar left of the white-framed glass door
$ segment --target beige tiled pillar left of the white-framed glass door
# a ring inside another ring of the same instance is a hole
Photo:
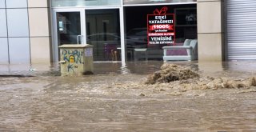
[[[28,0],[31,63],[50,62],[49,0]]]

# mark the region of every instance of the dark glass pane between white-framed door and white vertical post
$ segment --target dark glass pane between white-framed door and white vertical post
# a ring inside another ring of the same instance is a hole
[[[94,61],[120,60],[119,10],[86,10],[86,43],[94,46]]]

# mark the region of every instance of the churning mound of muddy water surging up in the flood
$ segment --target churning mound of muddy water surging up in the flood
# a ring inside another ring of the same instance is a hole
[[[174,82],[175,81],[175,82]],[[256,86],[256,77],[232,79],[232,78],[214,78],[197,74],[193,70],[184,66],[175,64],[164,64],[161,70],[150,74],[146,85],[158,85],[169,83],[167,86],[178,90],[217,90],[222,88],[241,89]],[[160,86],[161,87],[161,86]],[[161,89],[160,89],[161,90]]]

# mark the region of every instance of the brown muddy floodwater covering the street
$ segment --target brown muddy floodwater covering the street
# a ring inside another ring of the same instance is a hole
[[[256,62],[176,62],[207,78],[256,76]],[[146,85],[163,62],[94,63],[94,75],[58,66],[0,65],[0,131],[255,132],[256,87]]]

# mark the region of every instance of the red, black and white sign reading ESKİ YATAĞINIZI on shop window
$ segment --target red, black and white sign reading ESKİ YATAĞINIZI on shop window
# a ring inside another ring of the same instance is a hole
[[[148,45],[172,45],[175,42],[174,14],[166,14],[168,8],[155,9],[147,15]]]

